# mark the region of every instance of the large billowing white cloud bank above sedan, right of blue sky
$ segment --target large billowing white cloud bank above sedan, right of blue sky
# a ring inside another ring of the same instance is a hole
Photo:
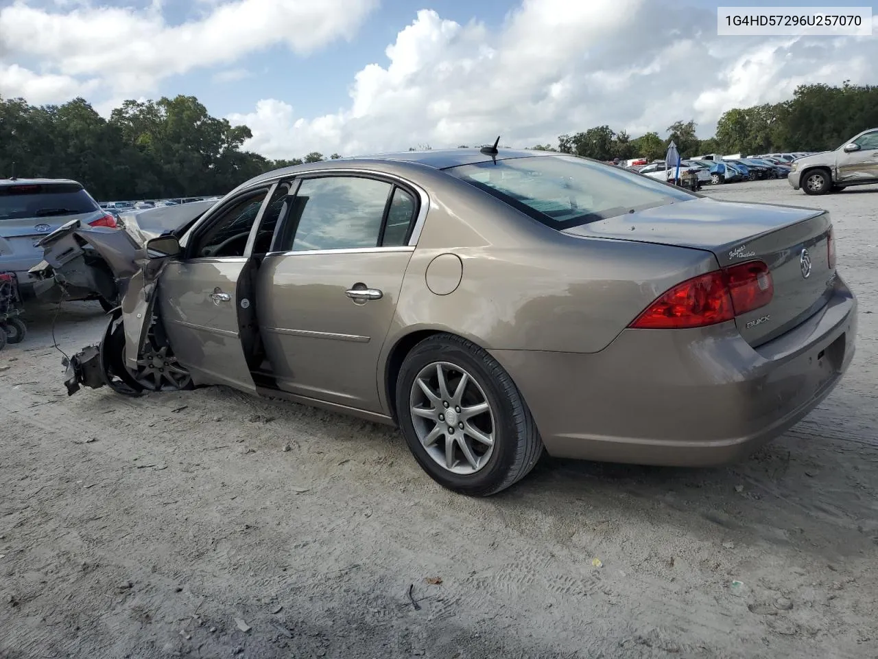
[[[516,146],[601,124],[630,134],[696,119],[703,136],[731,107],[776,102],[801,83],[874,82],[868,38],[716,36],[716,12],[652,0],[524,0],[497,31],[419,11],[363,67],[346,107],[297,115],[284,99],[230,114],[266,156]]]

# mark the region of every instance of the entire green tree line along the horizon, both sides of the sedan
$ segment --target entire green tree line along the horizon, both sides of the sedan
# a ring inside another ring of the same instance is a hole
[[[604,125],[533,148],[605,161],[661,158],[672,140],[683,156],[819,151],[876,126],[878,86],[804,84],[787,101],[723,113],[708,139],[698,137],[694,120],[680,119],[665,137],[632,138]],[[73,178],[98,199],[156,199],[223,194],[263,171],[326,159],[315,151],[270,160],[242,150],[251,136],[248,127],[212,117],[191,96],[126,101],[110,119],[83,98],[41,106],[0,98],[0,177],[10,177],[15,163],[18,177]]]

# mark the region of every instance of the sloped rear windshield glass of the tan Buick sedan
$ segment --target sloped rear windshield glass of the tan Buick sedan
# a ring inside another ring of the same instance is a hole
[[[510,158],[446,171],[558,229],[694,199],[653,178],[576,156]]]

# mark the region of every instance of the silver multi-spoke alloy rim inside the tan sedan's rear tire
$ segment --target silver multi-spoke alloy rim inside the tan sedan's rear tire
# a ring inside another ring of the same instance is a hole
[[[485,390],[463,367],[433,362],[409,395],[414,431],[426,453],[453,474],[475,474],[491,459],[494,413]]]

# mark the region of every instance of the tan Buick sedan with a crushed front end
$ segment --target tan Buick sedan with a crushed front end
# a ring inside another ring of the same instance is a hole
[[[155,213],[176,217],[152,234],[74,221],[42,241],[40,276],[120,293],[101,343],[68,361],[70,393],[219,384],[398,424],[467,495],[507,488],[543,450],[736,460],[853,357],[824,211],[714,201],[575,156],[312,163]]]

